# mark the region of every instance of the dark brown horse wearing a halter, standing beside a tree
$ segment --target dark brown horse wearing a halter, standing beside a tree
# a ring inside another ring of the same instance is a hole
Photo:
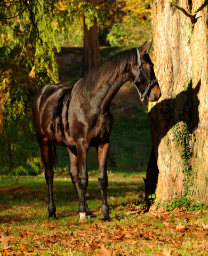
[[[96,147],[99,165],[103,220],[110,220],[107,203],[107,157],[113,126],[110,102],[127,81],[136,87],[141,100],[157,101],[161,97],[154,66],[149,57],[152,41],[140,47],[119,52],[74,86],[51,84],[44,86],[33,103],[34,131],[45,166],[49,192],[49,218],[56,218],[53,201],[53,175],[57,164],[55,144],[66,147],[70,157],[70,177],[79,201],[79,223],[92,215],[85,201],[88,184],[87,151]]]

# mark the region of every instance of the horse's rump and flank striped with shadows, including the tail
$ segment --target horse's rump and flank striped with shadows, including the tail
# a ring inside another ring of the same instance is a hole
[[[65,132],[69,130],[67,116],[72,88],[65,84],[46,85],[36,95],[33,103],[36,138],[40,147],[44,144],[49,146],[50,162],[54,167],[57,163],[55,143],[64,144]]]

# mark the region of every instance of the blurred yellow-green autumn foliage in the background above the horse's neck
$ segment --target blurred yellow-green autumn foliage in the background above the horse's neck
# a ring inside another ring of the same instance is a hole
[[[98,20],[99,43],[111,46],[138,46],[153,37],[150,1],[97,0],[103,19]],[[82,18],[78,18],[69,46],[82,46]],[[59,36],[60,43],[63,42]]]

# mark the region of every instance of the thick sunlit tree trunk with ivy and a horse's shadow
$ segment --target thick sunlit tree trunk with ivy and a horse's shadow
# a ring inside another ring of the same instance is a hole
[[[176,1],[176,0],[175,0]],[[150,103],[151,153],[146,185],[156,202],[185,196],[208,204],[208,13],[204,0],[179,0],[194,23],[153,0],[155,73],[162,91]]]

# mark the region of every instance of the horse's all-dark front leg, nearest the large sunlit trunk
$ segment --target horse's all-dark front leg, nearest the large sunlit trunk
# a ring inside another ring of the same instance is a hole
[[[108,176],[107,176],[107,157],[109,152],[109,143],[102,143],[98,146],[98,164],[99,164],[99,187],[102,196],[102,207],[101,211],[104,216],[103,220],[110,220],[109,209],[107,203],[107,187],[108,187]]]

